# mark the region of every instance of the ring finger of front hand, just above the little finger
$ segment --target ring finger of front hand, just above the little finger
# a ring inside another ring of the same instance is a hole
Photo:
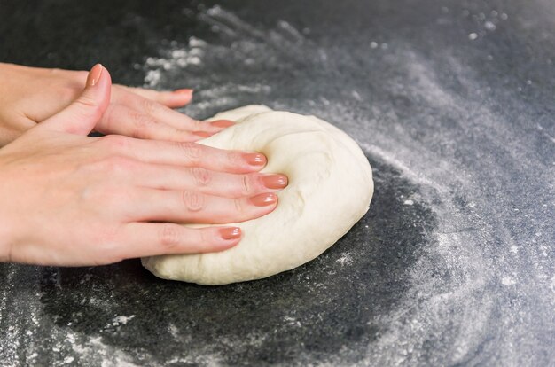
[[[129,207],[133,221],[174,223],[234,223],[267,215],[277,206],[277,195],[265,192],[250,198],[230,199],[198,191],[137,189],[130,194],[140,207]]]

